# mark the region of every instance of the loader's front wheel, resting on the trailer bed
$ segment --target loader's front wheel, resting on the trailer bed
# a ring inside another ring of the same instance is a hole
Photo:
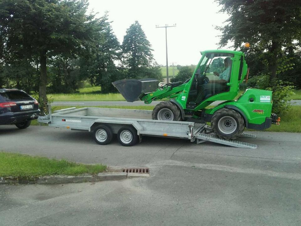
[[[155,120],[181,121],[181,112],[172,102],[162,101],[155,106],[151,117]]]

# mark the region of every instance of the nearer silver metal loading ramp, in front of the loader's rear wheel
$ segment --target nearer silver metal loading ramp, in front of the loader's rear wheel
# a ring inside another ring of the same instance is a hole
[[[218,137],[215,137],[210,134],[205,134],[205,133],[199,133],[196,136],[196,138],[200,139],[200,140],[206,140],[206,141],[210,141],[210,142],[214,142],[214,143],[220,143],[220,144],[237,147],[237,148],[253,148],[253,149],[257,148],[256,144],[235,141],[235,140],[233,140],[233,141],[232,140],[224,140],[224,139],[220,139]]]

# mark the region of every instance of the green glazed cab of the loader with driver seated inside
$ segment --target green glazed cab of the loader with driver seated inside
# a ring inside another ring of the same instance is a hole
[[[196,109],[206,100],[232,100],[238,93],[244,64],[243,53],[239,51],[202,52],[190,81],[186,108]]]

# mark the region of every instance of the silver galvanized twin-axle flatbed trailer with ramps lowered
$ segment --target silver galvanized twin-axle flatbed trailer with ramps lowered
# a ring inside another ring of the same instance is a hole
[[[170,137],[203,143],[210,141],[239,148],[257,148],[256,144],[224,140],[215,137],[211,127],[189,121],[152,120],[151,110],[129,110],[114,108],[83,107],[56,110],[49,115],[39,116],[39,123],[52,127],[77,131],[93,132],[98,144],[108,144],[113,134],[123,146],[132,146],[142,141],[143,136]],[[255,138],[253,134],[243,133],[242,137]]]

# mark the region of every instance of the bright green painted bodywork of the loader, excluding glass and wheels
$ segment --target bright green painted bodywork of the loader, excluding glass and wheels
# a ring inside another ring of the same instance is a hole
[[[201,54],[202,57],[193,72],[192,78],[187,83],[174,88],[165,86],[162,89],[157,89],[155,92],[152,92],[150,94],[142,95],[140,99],[144,100],[145,104],[150,104],[153,100],[173,98],[182,107],[185,113],[198,112],[199,110],[203,110],[205,111],[205,114],[209,115],[213,115],[215,111],[221,108],[232,106],[232,108],[234,107],[239,109],[240,114],[244,115],[245,120],[248,121],[248,123],[252,124],[262,124],[265,122],[266,118],[271,117],[272,91],[247,89],[246,92],[242,94],[237,100],[233,100],[239,92],[239,84],[243,82],[247,74],[248,66],[246,64],[245,54],[243,52],[230,50],[207,50],[202,51]],[[209,67],[206,67],[206,65],[210,61],[210,59],[212,60],[216,56],[229,56],[231,60],[230,80],[228,83],[223,84],[223,86],[227,88],[227,91],[215,93],[209,97],[206,96],[204,100],[201,99],[201,102],[193,105],[193,108],[189,107],[189,109],[187,109],[187,105],[190,105],[191,103],[188,103],[188,99],[189,95],[193,93],[193,84],[198,84],[196,83],[196,81],[198,81],[196,76],[207,76],[206,72],[208,71]],[[251,98],[254,101],[250,101]],[[225,102],[215,106],[214,108],[205,109],[216,100],[224,100]],[[193,115],[193,118],[200,117]]]

